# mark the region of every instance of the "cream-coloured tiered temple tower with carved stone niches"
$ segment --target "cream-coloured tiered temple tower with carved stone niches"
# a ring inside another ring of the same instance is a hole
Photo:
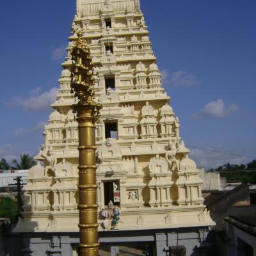
[[[60,90],[36,157],[45,168],[29,171],[17,230],[78,232],[70,51],[79,31],[90,45],[96,100],[103,106],[96,131],[99,230],[111,228],[110,217],[102,216],[110,201],[121,212],[118,230],[212,225],[199,171],[161,84],[140,1],[77,0]]]

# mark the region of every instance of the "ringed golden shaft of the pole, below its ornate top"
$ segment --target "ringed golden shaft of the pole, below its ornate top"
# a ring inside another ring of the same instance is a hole
[[[93,108],[77,109],[79,131],[79,228],[80,255],[96,256],[98,248],[95,116]]]

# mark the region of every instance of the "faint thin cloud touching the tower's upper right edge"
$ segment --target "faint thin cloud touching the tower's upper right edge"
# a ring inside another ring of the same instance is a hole
[[[178,70],[170,74],[167,69],[161,71],[163,84],[170,84],[175,87],[188,87],[200,84],[196,75],[189,74],[184,70]]]

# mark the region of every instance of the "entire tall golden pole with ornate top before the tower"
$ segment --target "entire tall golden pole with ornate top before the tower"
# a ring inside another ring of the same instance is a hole
[[[73,106],[79,132],[79,235],[80,256],[99,255],[95,122],[101,108],[93,101],[92,59],[82,33],[72,49],[72,93],[79,99]]]

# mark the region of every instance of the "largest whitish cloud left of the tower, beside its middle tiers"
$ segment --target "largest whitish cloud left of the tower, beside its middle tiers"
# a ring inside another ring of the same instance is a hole
[[[28,97],[13,97],[8,106],[21,107],[24,111],[44,111],[49,109],[51,103],[55,101],[58,88],[52,87],[48,92],[41,92],[41,88],[37,87],[28,92]]]

